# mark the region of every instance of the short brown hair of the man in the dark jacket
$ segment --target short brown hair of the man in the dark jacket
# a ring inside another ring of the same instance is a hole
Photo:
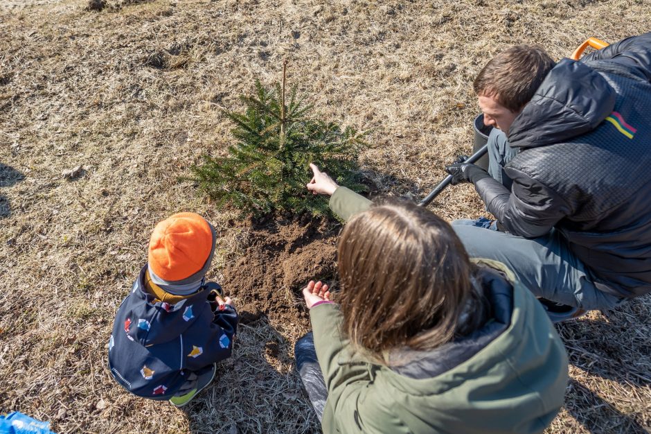
[[[554,66],[542,48],[512,46],[483,67],[472,88],[477,96],[490,96],[508,110],[519,112]]]

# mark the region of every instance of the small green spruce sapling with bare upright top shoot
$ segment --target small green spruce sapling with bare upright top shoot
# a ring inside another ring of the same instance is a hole
[[[219,205],[228,203],[255,216],[271,211],[327,214],[327,201],[305,189],[311,162],[326,168],[337,183],[364,191],[357,170],[364,134],[312,116],[312,105],[297,96],[296,87],[285,103],[284,67],[283,85],[267,89],[256,80],[256,94],[241,99],[243,114],[224,111],[235,123],[235,144],[228,155],[204,155],[191,168],[199,189]]]

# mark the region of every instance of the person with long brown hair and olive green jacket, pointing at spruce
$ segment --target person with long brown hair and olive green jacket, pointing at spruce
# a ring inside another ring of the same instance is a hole
[[[295,348],[323,432],[542,433],[563,403],[567,355],[533,294],[504,264],[471,261],[427,209],[353,195],[337,304],[307,285],[312,332]]]

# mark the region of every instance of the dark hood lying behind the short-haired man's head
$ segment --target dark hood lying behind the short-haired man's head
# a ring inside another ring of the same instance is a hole
[[[616,92],[581,62],[563,59],[547,74],[508,132],[513,148],[567,141],[594,130],[615,106]]]

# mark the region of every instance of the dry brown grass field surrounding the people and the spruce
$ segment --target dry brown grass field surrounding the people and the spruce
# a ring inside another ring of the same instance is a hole
[[[255,78],[278,81],[289,60],[289,82],[324,119],[371,131],[360,164],[373,188],[423,196],[470,152],[471,84],[492,55],[535,43],[561,58],[651,23],[649,0],[107,3],[0,0],[0,413],[61,433],[319,431],[292,364],[304,315],[242,324],[234,357],[186,410],[131,396],[106,368],[114,313],[157,221],[187,210],[215,224],[213,279],[246,265],[254,229],[179,177],[225,150],[221,109],[240,107]],[[470,186],[431,208],[482,213]],[[296,290],[257,288],[298,312]],[[547,433],[651,429],[650,301],[557,327],[571,382]]]

